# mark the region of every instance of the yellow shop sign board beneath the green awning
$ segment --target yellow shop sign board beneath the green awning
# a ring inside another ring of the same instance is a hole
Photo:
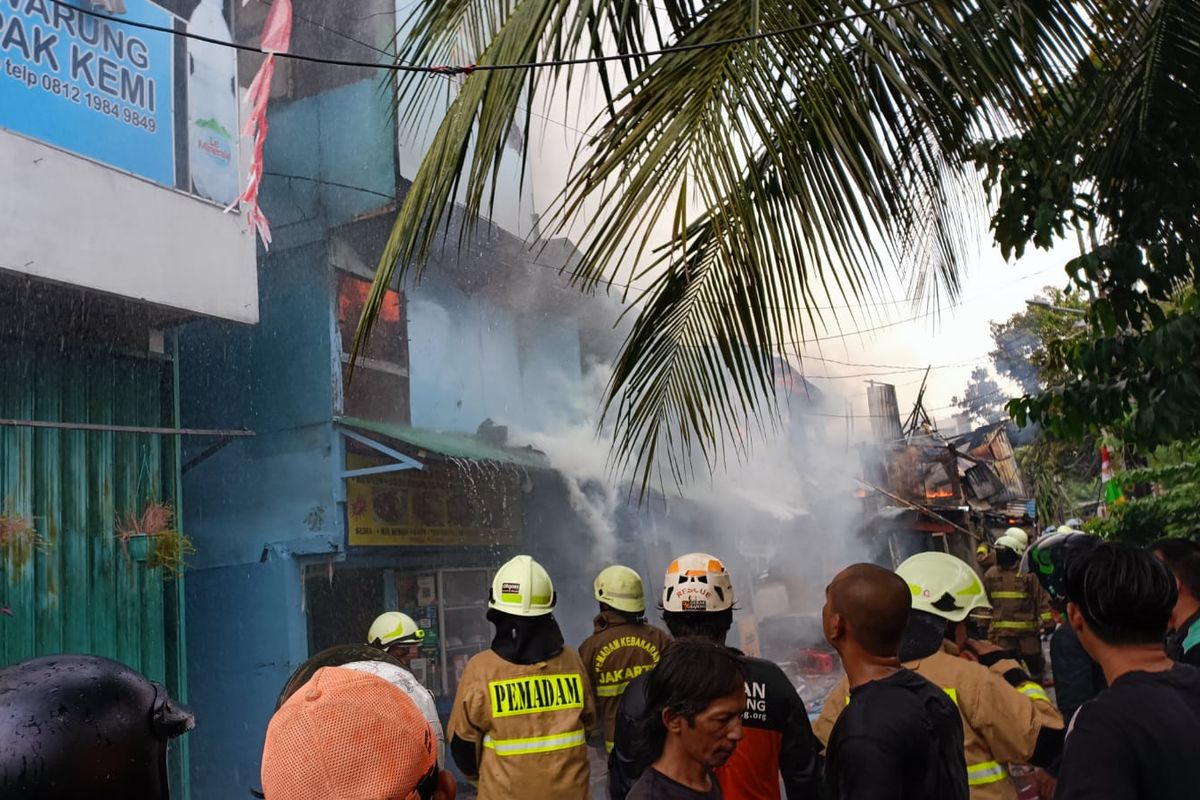
[[[347,469],[388,463],[347,453]],[[347,479],[352,547],[516,545],[521,537],[520,473],[509,468],[427,463]]]

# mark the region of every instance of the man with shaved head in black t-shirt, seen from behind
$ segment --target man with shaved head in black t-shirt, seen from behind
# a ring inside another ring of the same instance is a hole
[[[962,718],[940,687],[900,666],[912,595],[874,564],[826,589],[826,638],[841,656],[850,700],[826,747],[834,800],[967,800]]]

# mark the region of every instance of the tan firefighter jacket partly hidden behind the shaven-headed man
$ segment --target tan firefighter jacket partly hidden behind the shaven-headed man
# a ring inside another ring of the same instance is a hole
[[[1061,747],[1062,716],[1018,662],[1002,658],[984,667],[942,649],[905,667],[941,686],[959,706],[971,800],[1016,800],[1007,764],[1027,764],[1043,728],[1058,732],[1055,739]],[[848,702],[850,684],[842,678],[812,728],[822,745]]]

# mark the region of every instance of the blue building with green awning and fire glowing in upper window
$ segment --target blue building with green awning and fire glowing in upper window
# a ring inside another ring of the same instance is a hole
[[[548,242],[538,264],[517,237],[482,229],[463,253],[439,253],[428,279],[389,296],[348,381],[349,337],[406,182],[378,78],[314,84],[271,108],[262,201],[275,241],[259,258],[259,324],[203,320],[179,335],[182,425],[254,432],[184,455],[198,800],[258,786],[290,673],[361,640],[385,608],[430,626],[420,675],[448,706],[456,666],[490,643],[490,571],[511,554],[551,567],[568,640],[590,632],[594,569],[578,553],[592,534],[568,479],[516,435],[582,423],[570,398],[612,347],[589,321],[594,303],[544,266],[569,245]],[[396,513],[437,519],[379,522]],[[642,559],[642,521],[622,513],[623,557]]]

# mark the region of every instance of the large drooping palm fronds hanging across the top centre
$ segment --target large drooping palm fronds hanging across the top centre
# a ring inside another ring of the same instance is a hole
[[[614,463],[643,487],[664,463],[677,479],[697,457],[712,467],[739,431],[769,428],[774,359],[822,329],[824,296],[874,300],[896,270],[914,297],[956,295],[983,207],[976,140],[1044,114],[1052,95],[1031,86],[1103,62],[1106,6],[425,0],[397,61],[476,66],[412,176],[359,343],[384,289],[419,277],[460,192],[460,241],[509,201],[492,179],[522,103],[590,82],[606,108],[544,230],[580,240],[569,272],[583,290],[648,281],[608,386]],[[613,60],[564,62],[581,56]],[[505,68],[535,61],[554,64]],[[406,125],[446,91],[426,74],[398,83]]]

